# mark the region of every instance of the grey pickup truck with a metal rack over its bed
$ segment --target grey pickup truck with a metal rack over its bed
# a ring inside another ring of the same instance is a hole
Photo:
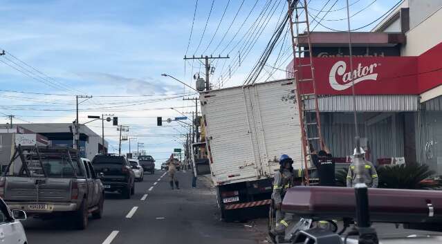
[[[10,209],[41,218],[71,218],[85,229],[89,214],[101,218],[104,187],[89,160],[67,147],[20,147],[0,178]]]

